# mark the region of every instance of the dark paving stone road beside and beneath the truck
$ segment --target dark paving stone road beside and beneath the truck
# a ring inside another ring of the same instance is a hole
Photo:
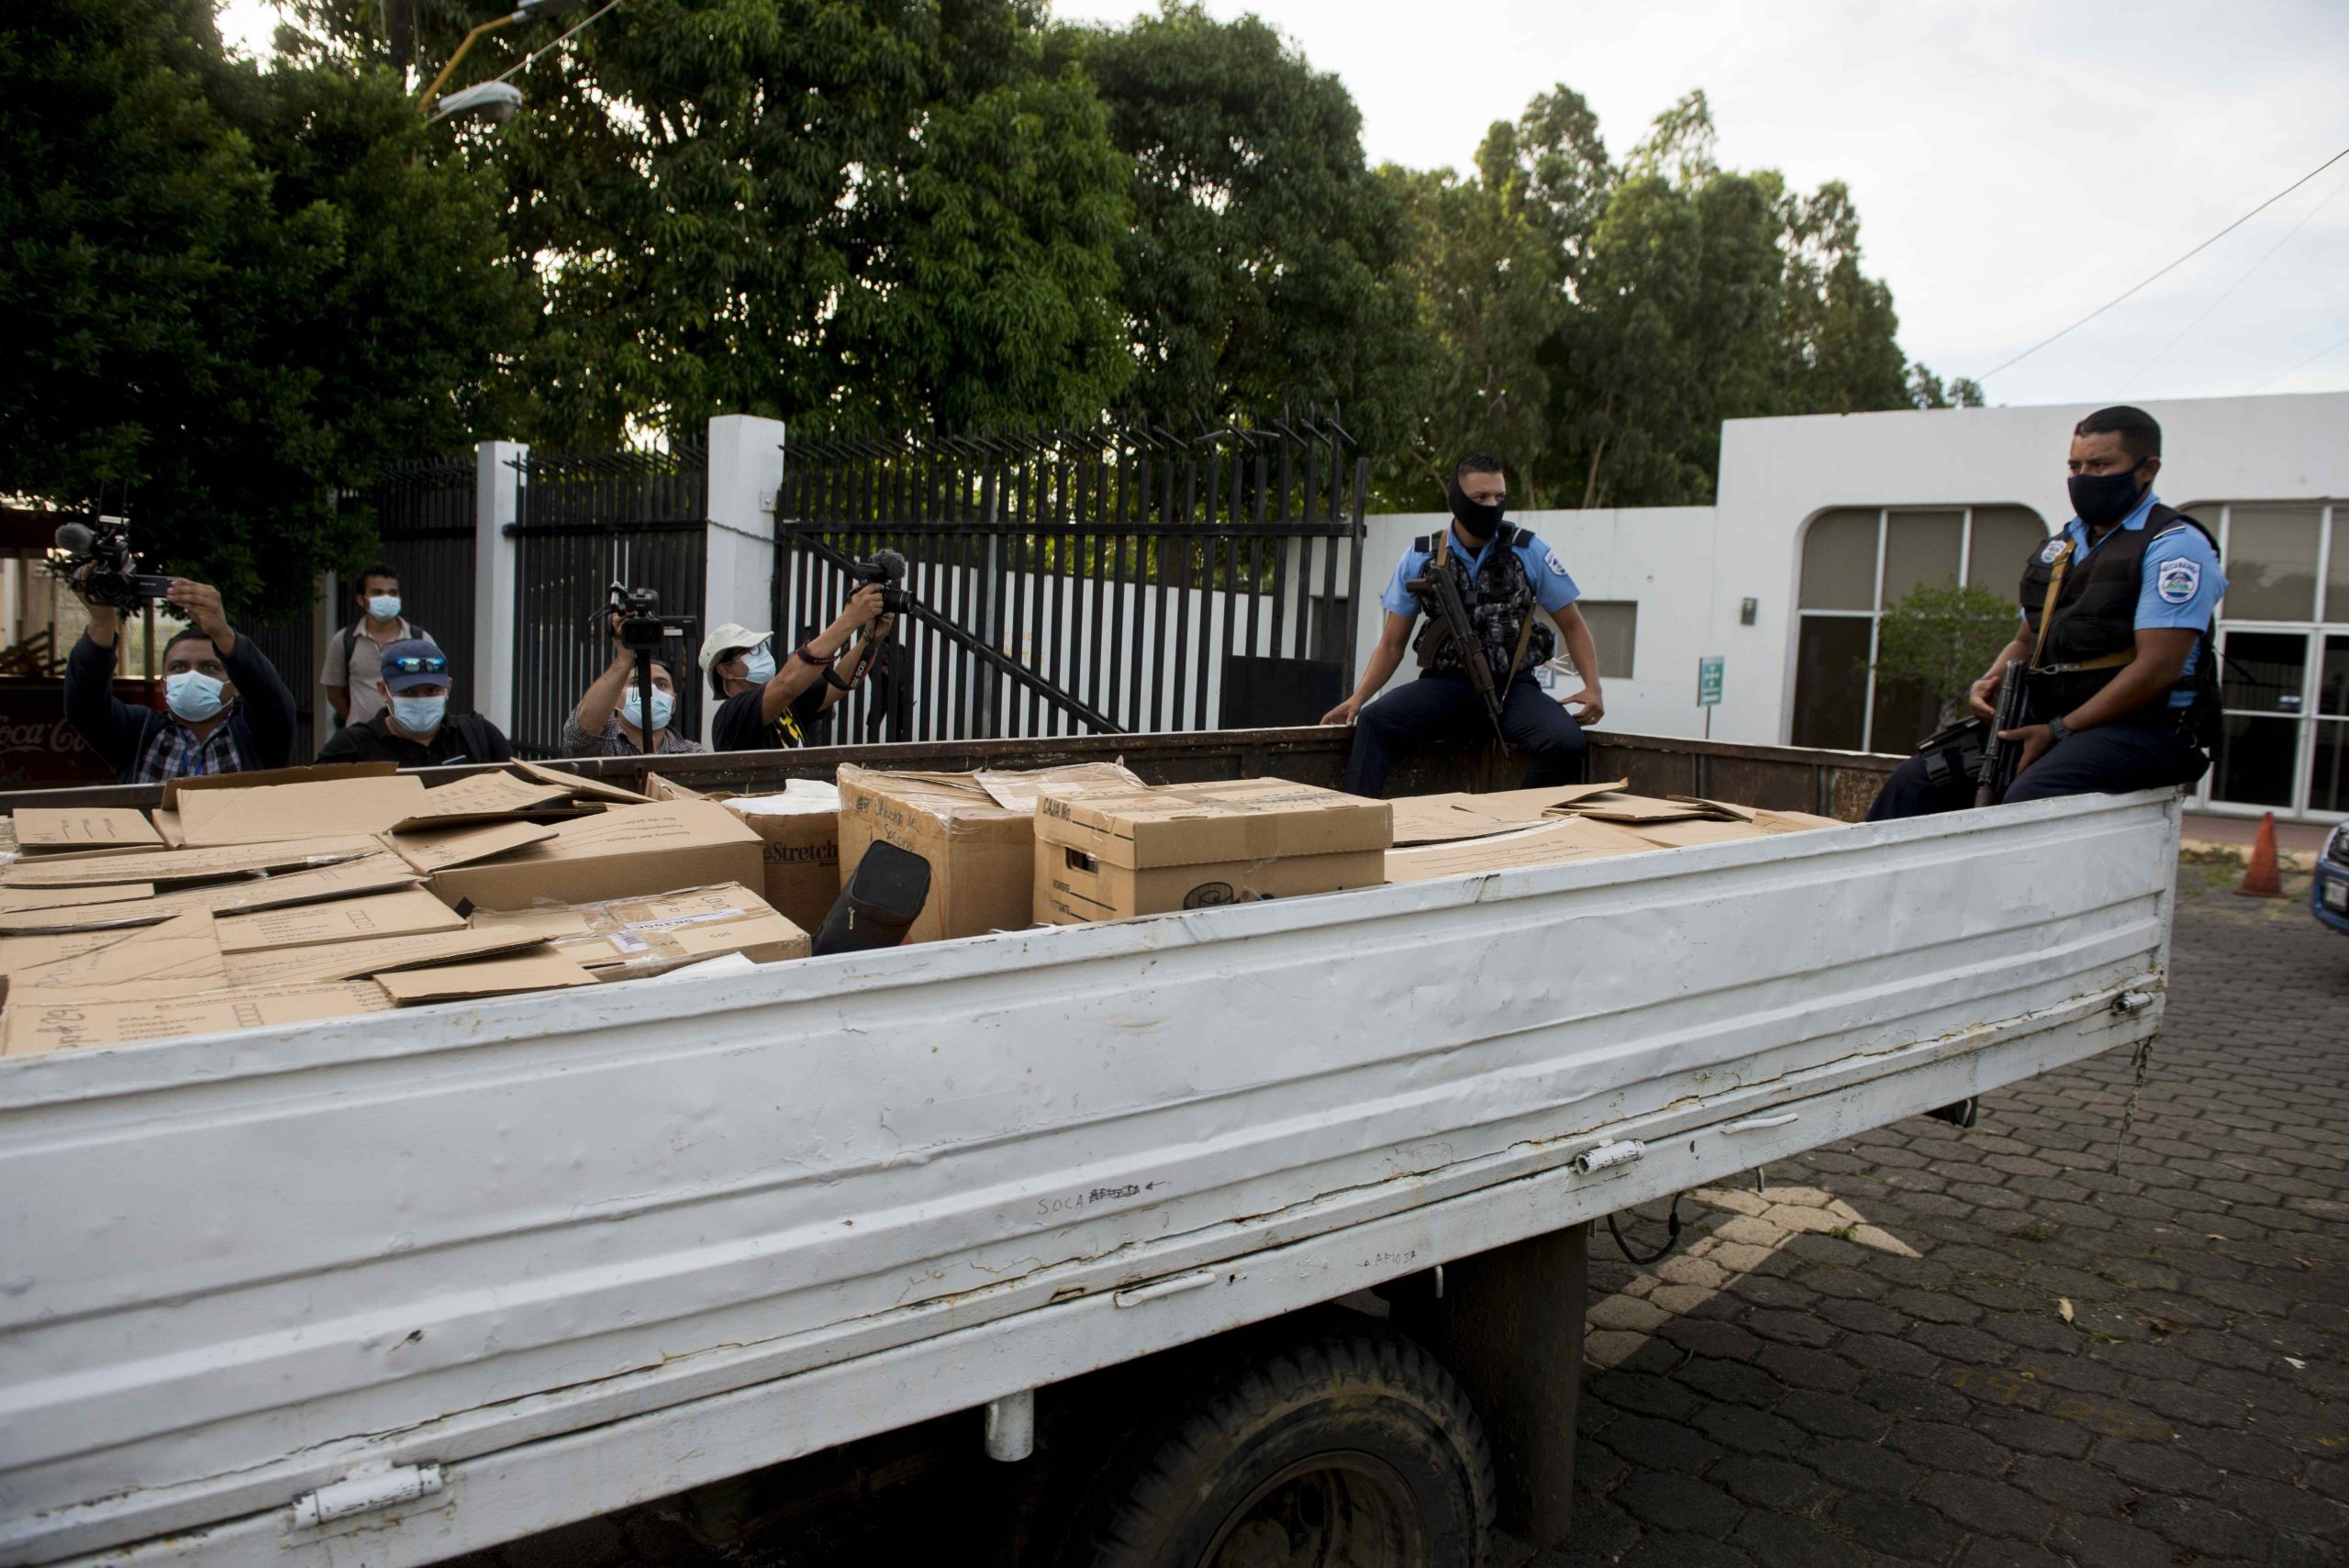
[[[1771,1167],[1649,1270],[1602,1232],[1574,1542],[1496,1568],[2349,1566],[2349,939],[2232,883],[2182,871],[2142,1084],[2109,1054]],[[876,1559],[653,1505],[470,1566],[695,1561]]]

